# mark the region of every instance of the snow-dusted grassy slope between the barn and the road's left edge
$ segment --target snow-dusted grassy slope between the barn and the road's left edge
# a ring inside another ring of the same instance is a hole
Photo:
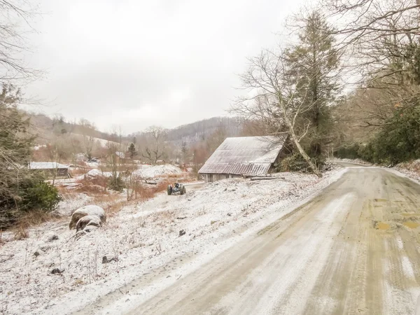
[[[75,231],[68,230],[69,218],[46,223],[30,230],[29,238],[1,246],[0,311],[69,314],[186,253],[195,254],[197,267],[253,226],[287,214],[342,172],[333,170],[323,179],[290,173],[270,181],[230,179],[187,190],[183,196],[162,193],[109,215],[103,228],[77,241]],[[89,201],[80,200],[80,206]],[[68,207],[77,202],[69,201]],[[62,212],[65,207],[62,204]],[[181,230],[185,235],[180,236]],[[52,239],[53,234],[58,239]],[[104,255],[115,255],[118,261],[102,264]],[[64,272],[51,274],[55,268]],[[152,295],[176,276],[142,294]]]

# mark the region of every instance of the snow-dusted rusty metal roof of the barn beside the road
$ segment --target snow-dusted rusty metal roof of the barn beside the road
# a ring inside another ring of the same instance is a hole
[[[227,138],[200,169],[200,174],[267,174],[288,135]]]

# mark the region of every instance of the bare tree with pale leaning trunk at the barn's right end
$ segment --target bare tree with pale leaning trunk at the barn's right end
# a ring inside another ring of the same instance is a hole
[[[249,61],[249,69],[241,75],[241,80],[251,96],[238,99],[232,112],[264,121],[274,131],[272,134],[282,132],[286,127],[302,158],[314,174],[321,177],[321,172],[300,144],[311,124],[310,120],[300,120],[300,117],[313,104],[307,104],[307,97],[297,89],[300,81],[288,78],[290,68],[285,51],[263,50],[259,57]],[[307,81],[308,78],[301,76],[299,80]]]

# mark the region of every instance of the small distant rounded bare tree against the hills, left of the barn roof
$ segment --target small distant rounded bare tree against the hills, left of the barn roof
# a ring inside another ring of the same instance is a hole
[[[146,130],[147,144],[141,153],[143,158],[149,160],[152,165],[165,156],[165,141],[167,130],[162,127],[152,126]]]

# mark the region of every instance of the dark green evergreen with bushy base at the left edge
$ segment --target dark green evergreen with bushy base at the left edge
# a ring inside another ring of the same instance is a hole
[[[52,211],[59,201],[56,188],[29,169],[34,136],[29,119],[18,110],[20,90],[3,84],[0,94],[0,230],[32,209]]]

